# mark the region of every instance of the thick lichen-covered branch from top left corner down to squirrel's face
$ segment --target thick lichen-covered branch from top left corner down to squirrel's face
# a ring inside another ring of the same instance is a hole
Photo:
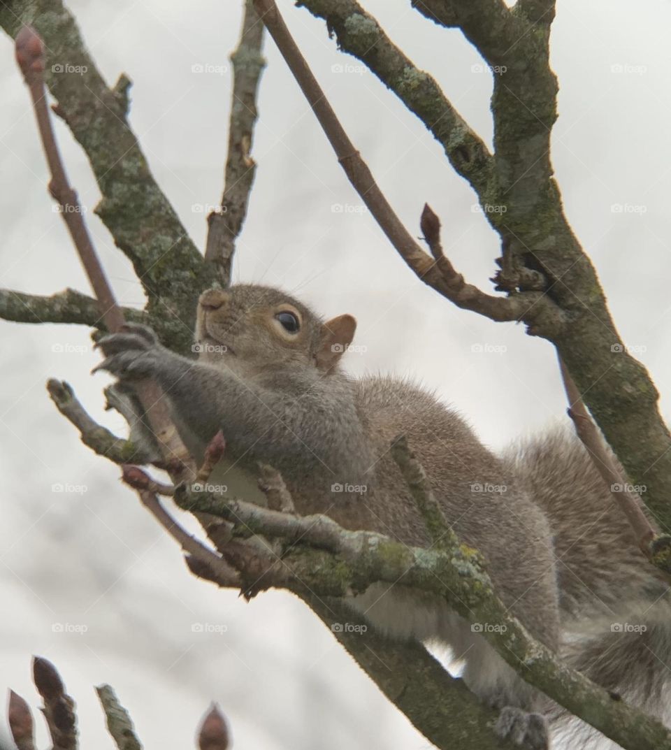
[[[185,341],[195,320],[197,293],[208,286],[208,274],[130,130],[128,79],[121,77],[115,88],[108,88],[60,0],[0,5],[0,26],[7,34],[15,37],[23,25],[37,28],[46,43],[46,83],[58,101],[58,115],[91,163],[103,195],[97,214],[132,261],[148,295],[148,312],[156,314],[157,329],[169,332],[175,342]]]

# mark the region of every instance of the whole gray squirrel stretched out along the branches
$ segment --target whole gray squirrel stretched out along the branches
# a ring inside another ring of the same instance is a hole
[[[493,455],[430,393],[391,377],[348,377],[340,358],[355,327],[350,315],[324,322],[270,287],[213,289],[199,299],[197,360],[133,324],[99,341],[106,359],[97,369],[130,388],[154,378],[196,453],[222,429],[229,490],[241,473],[256,475],[259,461],[271,463],[298,513],[427,546],[389,450],[404,434],[448,523],[484,555],[496,592],[529,632],[661,715],[671,676],[667,586],[583,446],[553,431]],[[532,750],[550,746],[550,719],[561,721],[561,712],[444,601],[376,583],[349,604],[392,637],[449,646],[465,662],[466,685],[500,709],[501,736]]]

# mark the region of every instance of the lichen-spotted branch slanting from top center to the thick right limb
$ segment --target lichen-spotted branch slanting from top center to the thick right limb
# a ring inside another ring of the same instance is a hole
[[[301,0],[297,5],[323,18],[340,49],[364,62],[420,118],[458,174],[478,193],[488,189],[493,163],[487,146],[445,98],[436,80],[415,67],[370,13],[356,0]],[[308,97],[308,101],[312,105],[317,100]]]

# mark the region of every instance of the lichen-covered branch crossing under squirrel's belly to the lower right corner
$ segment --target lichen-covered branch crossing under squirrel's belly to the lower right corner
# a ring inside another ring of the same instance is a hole
[[[403,585],[444,598],[469,622],[505,625],[484,633],[499,655],[526,682],[623,748],[670,750],[671,733],[660,721],[613,697],[534,640],[493,592],[478,553],[458,540],[453,543],[444,536],[442,549],[407,547],[375,532],[343,529],[325,516],[295,516],[238,499],[193,494],[184,485],[175,491],[175,501],[186,510],[229,520],[246,532],[289,542],[282,565],[267,565],[253,555],[236,559],[243,590],[256,585],[259,575],[264,587],[289,589],[302,597],[343,597],[376,581],[403,580]],[[292,546],[298,540],[300,547]]]

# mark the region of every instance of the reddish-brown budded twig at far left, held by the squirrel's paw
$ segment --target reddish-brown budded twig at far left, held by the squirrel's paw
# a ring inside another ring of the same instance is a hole
[[[117,332],[124,326],[124,316],[121,308],[116,304],[112,288],[109,286],[91,242],[79,199],[67,180],[63,160],[55,140],[49,108],[46,106],[46,88],[43,77],[44,44],[37,31],[30,26],[24,26],[16,35],[16,61],[19,63],[31,94],[46,161],[52,175],[49,190],[61,205],[61,214],[70,231],[88,281],[93,287],[105,325],[109,331]],[[136,389],[142,407],[147,413],[148,422],[163,452],[166,465],[174,474],[173,479],[178,481],[184,476],[195,475],[193,459],[172,424],[168,406],[157,384],[144,381],[138,383]]]

